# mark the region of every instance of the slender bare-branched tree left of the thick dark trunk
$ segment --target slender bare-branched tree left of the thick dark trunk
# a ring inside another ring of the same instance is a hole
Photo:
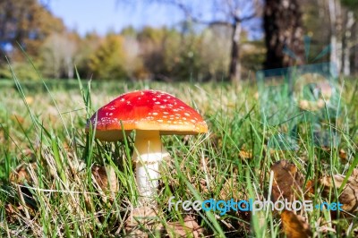
[[[190,21],[213,25],[224,25],[231,28],[231,50],[228,78],[232,82],[241,80],[240,40],[243,22],[258,20],[260,4],[258,0],[210,0],[202,1],[158,0],[159,3],[179,7]],[[206,11],[211,10],[208,15]]]

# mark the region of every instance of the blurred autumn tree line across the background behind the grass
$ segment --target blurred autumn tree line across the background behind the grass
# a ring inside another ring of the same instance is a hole
[[[19,77],[38,78],[22,50],[39,72],[56,79],[73,78],[74,65],[82,78],[132,81],[240,81],[262,68],[328,60],[342,74],[358,72],[355,0],[211,0],[216,10],[209,21],[195,4],[158,2],[176,5],[186,19],[171,27],[80,36],[38,0],[3,0],[0,78],[11,78],[4,55]],[[255,30],[265,37],[251,40]],[[309,50],[304,35],[311,36]],[[315,61],[328,45],[328,54]]]

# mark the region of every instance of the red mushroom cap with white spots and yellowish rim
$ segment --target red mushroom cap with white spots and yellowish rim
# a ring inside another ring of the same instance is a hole
[[[168,134],[208,132],[208,125],[198,112],[183,101],[163,91],[140,90],[125,93],[90,118],[99,140],[121,140],[124,131],[150,130]]]

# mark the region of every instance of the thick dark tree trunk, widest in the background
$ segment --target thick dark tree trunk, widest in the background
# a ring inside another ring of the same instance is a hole
[[[265,69],[303,64],[303,27],[299,0],[266,0],[264,30],[267,47]],[[285,48],[294,54],[285,54]]]

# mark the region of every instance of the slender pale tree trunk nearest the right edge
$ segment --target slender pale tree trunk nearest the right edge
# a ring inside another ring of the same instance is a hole
[[[347,20],[345,23],[345,45],[343,48],[343,74],[348,76],[351,74],[351,45],[352,45],[352,27],[354,25],[354,13],[348,11]]]

